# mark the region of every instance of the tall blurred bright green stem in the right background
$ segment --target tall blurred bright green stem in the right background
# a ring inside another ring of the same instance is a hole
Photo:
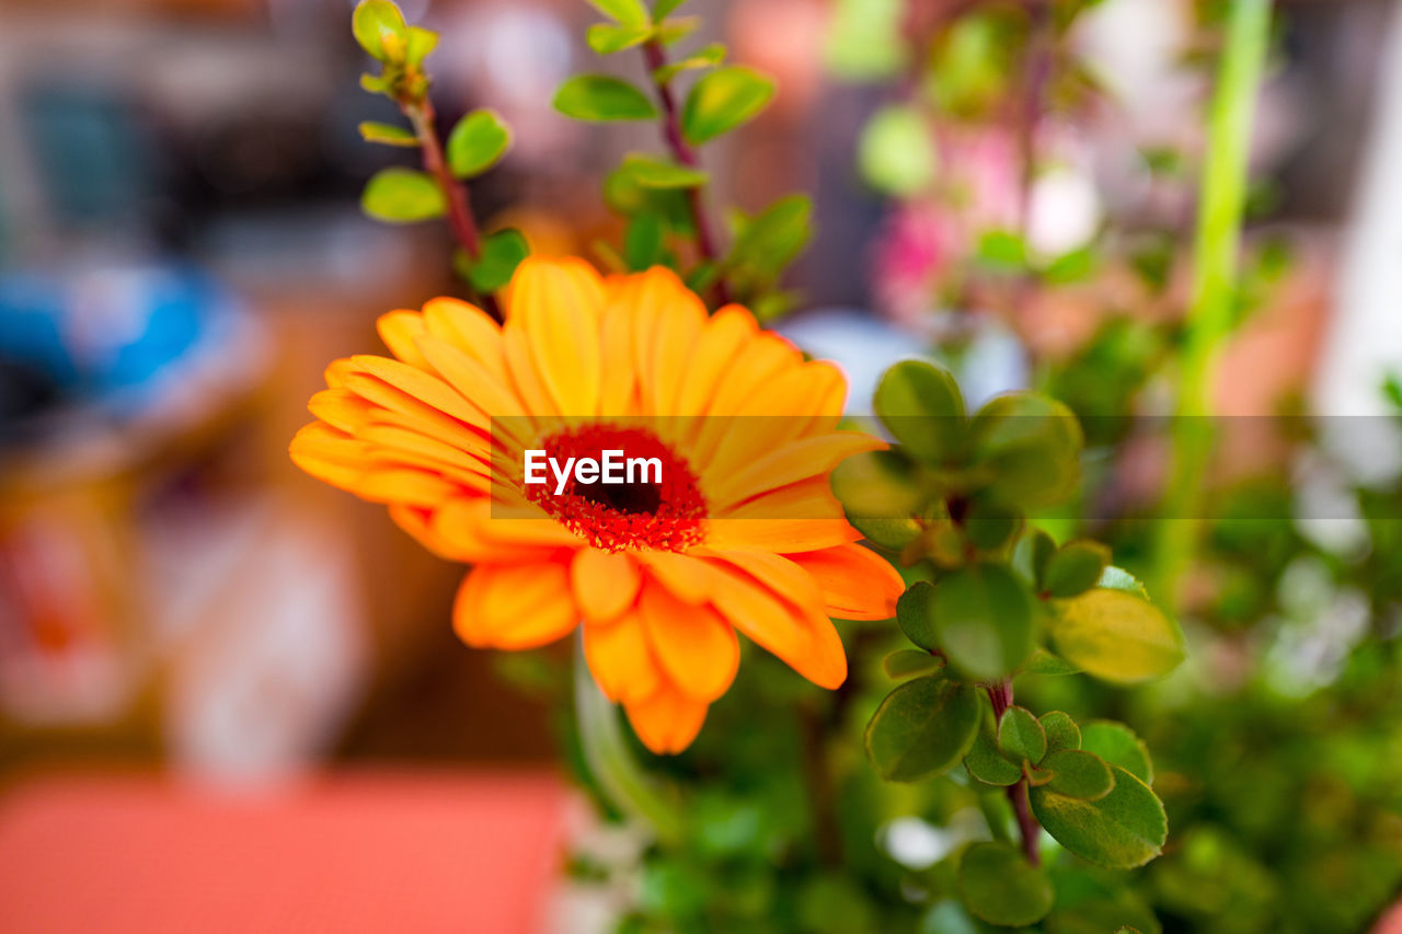
[[[1270,35],[1270,0],[1234,0],[1217,72],[1193,241],[1193,283],[1173,418],[1168,494],[1154,543],[1152,590],[1169,607],[1192,562],[1213,449],[1213,362],[1232,327],[1246,158]]]

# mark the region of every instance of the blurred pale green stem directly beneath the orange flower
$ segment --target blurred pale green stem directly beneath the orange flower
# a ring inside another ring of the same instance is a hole
[[[649,827],[663,846],[680,843],[681,816],[632,757],[618,728],[618,711],[585,663],[583,632],[575,651],[575,718],[585,763],[614,806]]]

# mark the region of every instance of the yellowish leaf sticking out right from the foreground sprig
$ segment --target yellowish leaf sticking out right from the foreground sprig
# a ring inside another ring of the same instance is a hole
[[[1059,600],[1052,616],[1057,654],[1088,675],[1113,684],[1162,677],[1183,661],[1183,635],[1148,600],[1096,588]]]

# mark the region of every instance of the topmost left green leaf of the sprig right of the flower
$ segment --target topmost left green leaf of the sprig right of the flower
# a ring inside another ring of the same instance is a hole
[[[942,367],[901,360],[882,376],[872,407],[906,452],[927,464],[944,463],[963,442],[963,395]]]

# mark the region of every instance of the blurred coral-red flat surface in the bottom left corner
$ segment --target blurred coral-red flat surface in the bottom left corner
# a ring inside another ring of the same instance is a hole
[[[0,930],[534,934],[564,802],[540,774],[34,780],[0,798]]]

